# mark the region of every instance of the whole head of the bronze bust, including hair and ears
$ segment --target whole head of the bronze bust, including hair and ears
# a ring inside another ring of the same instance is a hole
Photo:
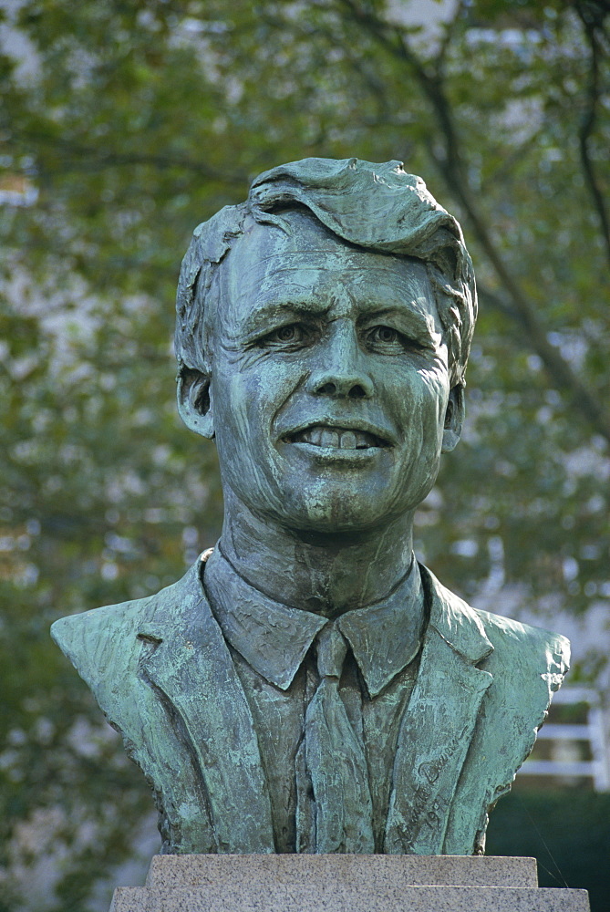
[[[399,162],[258,177],[178,289],[179,408],[225,497],[303,532],[412,513],[460,438],[476,307],[459,224]]]

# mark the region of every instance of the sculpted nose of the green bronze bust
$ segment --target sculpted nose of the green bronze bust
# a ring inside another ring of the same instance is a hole
[[[320,355],[320,364],[312,371],[307,383],[312,395],[332,399],[371,398],[373,381],[365,369],[365,356],[354,333],[337,332],[336,338]]]

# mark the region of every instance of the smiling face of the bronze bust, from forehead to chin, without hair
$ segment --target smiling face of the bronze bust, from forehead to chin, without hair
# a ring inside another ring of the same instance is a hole
[[[223,266],[208,415],[222,484],[287,528],[370,530],[415,509],[458,439],[439,315],[424,264],[290,223],[255,224]]]

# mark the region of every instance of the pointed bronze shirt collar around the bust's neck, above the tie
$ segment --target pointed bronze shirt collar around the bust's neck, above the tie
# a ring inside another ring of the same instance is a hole
[[[316,634],[327,624],[335,624],[346,637],[372,697],[419,652],[424,596],[415,560],[383,601],[329,621],[265,596],[234,570],[219,548],[202,556],[203,585],[225,639],[276,687],[290,687]]]

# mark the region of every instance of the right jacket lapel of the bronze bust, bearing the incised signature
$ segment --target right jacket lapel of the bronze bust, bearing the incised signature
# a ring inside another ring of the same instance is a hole
[[[426,568],[430,620],[400,731],[384,851],[439,855],[481,700],[492,677],[475,667],[492,646],[475,612]]]

